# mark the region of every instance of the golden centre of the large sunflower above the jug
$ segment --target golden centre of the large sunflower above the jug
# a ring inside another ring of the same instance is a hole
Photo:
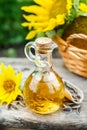
[[[50,17],[56,18],[58,14],[67,13],[67,0],[56,0],[51,8]]]

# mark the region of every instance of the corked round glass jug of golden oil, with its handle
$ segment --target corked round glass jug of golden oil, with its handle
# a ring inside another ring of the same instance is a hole
[[[35,55],[32,53],[35,50]],[[57,111],[64,98],[64,84],[52,68],[52,51],[55,44],[50,38],[41,37],[25,46],[25,55],[35,63],[35,70],[24,84],[26,106],[39,114]]]

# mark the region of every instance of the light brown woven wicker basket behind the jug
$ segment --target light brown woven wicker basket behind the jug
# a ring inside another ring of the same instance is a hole
[[[65,62],[65,66],[80,76],[87,78],[87,35],[72,34],[66,41],[53,37]]]

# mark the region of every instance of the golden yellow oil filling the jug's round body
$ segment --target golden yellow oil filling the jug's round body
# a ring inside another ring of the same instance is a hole
[[[33,73],[24,85],[25,104],[39,114],[53,113],[61,107],[64,90],[62,79],[56,72]]]

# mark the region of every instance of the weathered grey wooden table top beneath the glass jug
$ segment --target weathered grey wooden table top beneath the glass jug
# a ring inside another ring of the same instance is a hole
[[[34,64],[25,58],[0,58],[0,62],[11,64],[17,72],[23,71],[23,83],[34,70]],[[26,108],[8,110],[5,106],[0,106],[0,125],[34,130],[87,129],[87,79],[68,71],[62,59],[53,59],[53,68],[64,80],[83,90],[84,100],[81,111],[57,111],[50,115],[39,115]]]

